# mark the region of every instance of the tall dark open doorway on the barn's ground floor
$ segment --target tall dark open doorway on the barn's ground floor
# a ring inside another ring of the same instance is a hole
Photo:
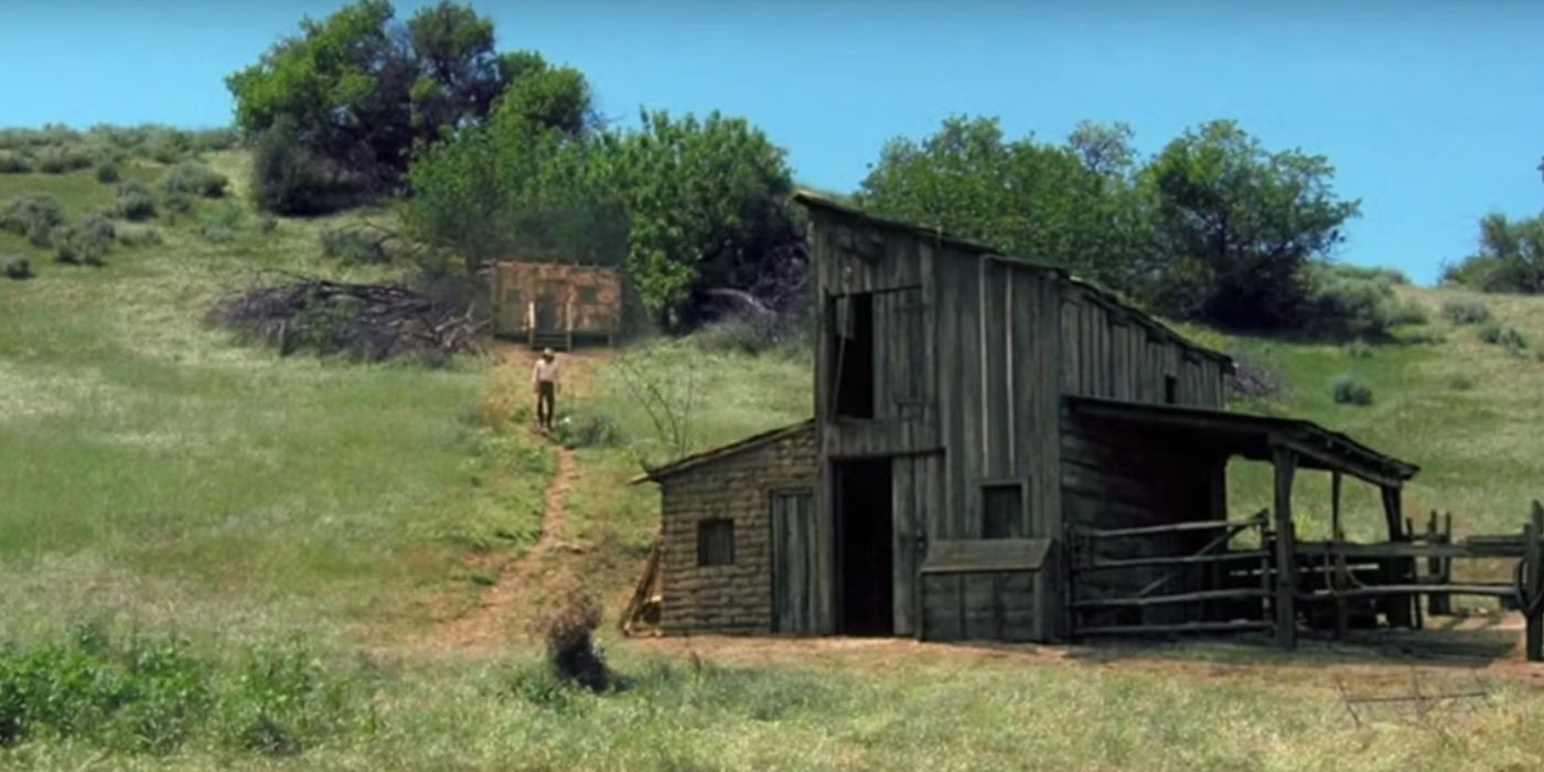
[[[891,460],[835,462],[837,631],[896,633]]]

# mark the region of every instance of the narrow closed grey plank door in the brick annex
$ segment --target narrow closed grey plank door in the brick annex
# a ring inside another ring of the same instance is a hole
[[[815,505],[811,491],[772,494],[772,630],[815,633]]]

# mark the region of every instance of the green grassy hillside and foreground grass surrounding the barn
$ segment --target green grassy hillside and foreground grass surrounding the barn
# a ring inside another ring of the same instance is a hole
[[[242,156],[208,161],[239,191]],[[124,168],[151,187],[164,173],[148,161]],[[0,205],[45,191],[73,219],[111,202],[111,190],[91,170],[0,174]],[[347,218],[269,230],[239,198],[201,201],[150,222],[161,245],[114,247],[100,269],[57,264],[0,235],[0,253],[26,252],[39,273],[0,279],[0,684],[25,687],[0,686],[0,767],[1544,764],[1544,741],[1527,729],[1544,718],[1544,696],[1516,662],[1478,673],[1490,698],[1471,710],[1349,721],[1337,678],[1410,678],[1396,650],[1362,644],[1309,642],[1288,656],[1249,644],[650,642],[605,630],[625,681],[602,696],[554,684],[519,636],[493,653],[422,645],[536,539],[554,462],[520,429],[523,369],[279,358],[201,323],[215,296],[259,269],[392,275],[321,256],[321,230]],[[212,238],[212,221],[229,233]],[[1529,432],[1544,418],[1544,364],[1482,343],[1478,326],[1442,321],[1451,293],[1402,292],[1434,320],[1402,335],[1433,343],[1353,357],[1194,332],[1283,374],[1288,395],[1241,408],[1305,415],[1422,465],[1413,513],[1451,510],[1461,528],[1510,531],[1544,496],[1533,488],[1544,437]],[[1544,303],[1484,303],[1544,343]],[[693,448],[809,414],[808,357],[703,343],[574,360],[562,432],[577,446],[577,482],[550,568],[577,574],[608,611],[658,513],[652,486],[627,485],[662,452],[628,372],[653,374],[682,400],[690,388]],[[1345,372],[1371,386],[1371,405],[1331,400]],[[1300,485],[1322,522],[1326,483]],[[1268,503],[1261,469],[1241,465],[1232,493],[1240,511]],[[1353,523],[1377,522],[1370,494],[1351,503]],[[86,621],[105,636],[69,633]],[[1424,686],[1476,678],[1444,670]],[[49,706],[51,723],[5,747],[6,710],[26,699]]]

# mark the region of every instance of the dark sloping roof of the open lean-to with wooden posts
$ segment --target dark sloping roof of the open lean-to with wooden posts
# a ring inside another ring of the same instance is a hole
[[[1067,397],[1073,415],[1122,423],[1172,438],[1177,448],[1204,448],[1269,460],[1275,448],[1299,454],[1311,469],[1340,471],[1377,485],[1402,485],[1419,466],[1382,454],[1345,434],[1303,418],[1248,415],[1241,412],[1175,405],[1149,405],[1092,397]]]

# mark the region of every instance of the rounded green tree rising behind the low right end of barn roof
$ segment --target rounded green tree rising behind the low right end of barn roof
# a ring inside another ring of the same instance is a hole
[[[1339,201],[1323,156],[1269,153],[1232,120],[1170,142],[1139,174],[1150,207],[1150,300],[1243,329],[1305,324],[1305,266],[1326,258],[1359,202]]]

